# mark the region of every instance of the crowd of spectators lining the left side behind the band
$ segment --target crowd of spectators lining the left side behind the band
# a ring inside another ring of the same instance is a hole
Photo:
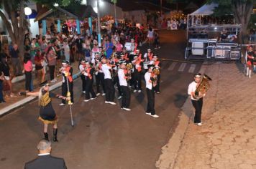
[[[156,39],[156,47],[159,38],[148,37],[143,25],[140,27],[130,24],[119,23],[117,26],[111,24],[110,29],[101,34],[101,47],[98,45],[98,36],[94,30],[87,28],[85,32],[56,32],[50,29],[42,36],[36,35],[32,38],[29,32],[24,38],[24,56],[20,56],[17,44],[9,44],[1,51],[1,65],[3,65],[3,76],[1,77],[2,90],[6,97],[14,97],[12,78],[24,75],[26,92],[34,90],[33,84],[40,84],[45,80],[54,83],[57,81],[58,69],[61,67],[61,60],[72,64],[80,59],[91,61],[93,53],[99,50],[104,51],[106,58],[111,57],[113,52],[122,52],[124,44],[134,42],[142,45],[146,39],[150,43]],[[158,36],[153,33],[153,36]],[[35,72],[35,73],[34,73]],[[49,76],[47,76],[49,74]],[[1,75],[1,74],[0,74]],[[35,80],[34,80],[35,79]],[[35,82],[37,81],[37,82]],[[1,88],[1,87],[0,87]],[[1,90],[1,89],[0,89]]]

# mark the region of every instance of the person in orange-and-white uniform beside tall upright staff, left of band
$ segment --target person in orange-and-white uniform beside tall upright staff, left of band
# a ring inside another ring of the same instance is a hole
[[[63,75],[63,84],[61,86],[61,95],[63,96],[67,96],[68,94],[68,88],[69,88],[69,92],[70,92],[70,98],[71,98],[71,102],[74,102],[73,99],[73,68],[68,65],[67,61],[63,61],[62,62],[63,67],[60,68],[60,72]],[[68,85],[67,85],[67,79],[68,79]],[[60,105],[65,105],[65,99],[62,100],[62,102],[60,103]]]

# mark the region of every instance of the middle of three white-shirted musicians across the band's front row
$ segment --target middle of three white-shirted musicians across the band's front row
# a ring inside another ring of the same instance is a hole
[[[120,65],[120,68],[118,70],[118,78],[119,78],[119,84],[122,90],[122,110],[131,111],[129,109],[130,100],[131,100],[131,94],[129,92],[128,84],[127,84],[127,69],[126,69],[126,62],[123,62]]]

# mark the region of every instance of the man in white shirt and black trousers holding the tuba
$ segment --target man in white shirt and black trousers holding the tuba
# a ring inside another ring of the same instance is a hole
[[[201,126],[201,111],[203,107],[203,97],[197,98],[196,97],[196,88],[198,87],[198,84],[201,80],[201,74],[195,74],[194,81],[191,82],[191,84],[188,85],[188,95],[191,96],[192,105],[195,108],[195,117],[194,117],[194,123],[196,125]]]

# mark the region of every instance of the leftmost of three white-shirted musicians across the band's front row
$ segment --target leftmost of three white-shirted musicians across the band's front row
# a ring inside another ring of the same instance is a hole
[[[111,77],[111,65],[106,64],[106,58],[101,59],[102,62],[102,72],[104,73],[104,83],[105,83],[105,90],[106,90],[106,101],[105,103],[109,103],[110,105],[116,105],[114,102],[114,83]]]

